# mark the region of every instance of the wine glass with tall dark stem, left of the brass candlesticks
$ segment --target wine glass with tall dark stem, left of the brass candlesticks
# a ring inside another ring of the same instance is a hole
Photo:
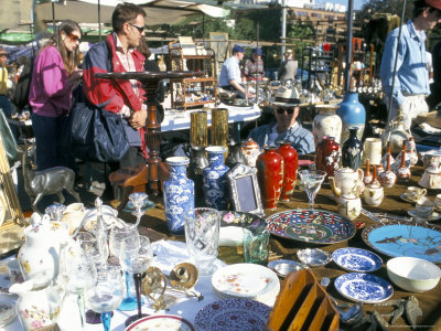
[[[144,273],[153,260],[153,250],[150,239],[146,236],[126,237],[119,249],[119,263],[125,271],[133,274],[135,288],[137,291],[138,314],[126,320],[126,327],[144,317],[141,312],[141,280]]]

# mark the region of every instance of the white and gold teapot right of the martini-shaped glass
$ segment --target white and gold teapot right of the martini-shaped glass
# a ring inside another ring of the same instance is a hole
[[[358,168],[354,170],[352,168],[342,168],[335,171],[334,183],[337,195],[352,194],[358,196],[364,191],[363,183],[364,171]],[[336,196],[336,195],[335,195]]]

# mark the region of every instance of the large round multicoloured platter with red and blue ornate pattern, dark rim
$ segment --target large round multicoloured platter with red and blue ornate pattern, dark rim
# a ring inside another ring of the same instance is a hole
[[[320,210],[292,210],[267,218],[269,231],[277,236],[311,244],[335,244],[355,235],[354,223],[342,215]]]

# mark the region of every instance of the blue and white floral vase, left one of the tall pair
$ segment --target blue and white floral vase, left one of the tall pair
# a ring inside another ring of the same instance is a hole
[[[170,178],[164,181],[165,221],[172,234],[184,234],[185,215],[194,211],[194,182],[186,177],[185,157],[168,158]]]

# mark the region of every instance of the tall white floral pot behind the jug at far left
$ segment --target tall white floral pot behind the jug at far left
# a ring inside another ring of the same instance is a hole
[[[25,243],[17,257],[24,280],[32,279],[35,287],[47,286],[51,280],[55,282],[61,248],[74,242],[68,236],[66,224],[49,222],[49,216],[44,215],[40,222],[35,221],[24,229],[24,236]]]

